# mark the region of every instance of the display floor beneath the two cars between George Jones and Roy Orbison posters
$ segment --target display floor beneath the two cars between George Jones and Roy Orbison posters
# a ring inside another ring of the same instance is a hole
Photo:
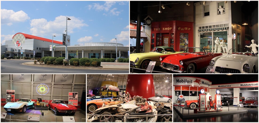
[[[41,112],[44,112],[44,116],[41,115]],[[32,110],[28,109],[26,113],[20,113],[20,112],[7,112],[4,110],[4,107],[1,106],[1,114],[7,113],[5,117],[5,122],[10,122],[10,116],[11,116],[11,122],[27,122],[28,115],[40,115],[40,122],[63,122],[62,116],[70,116],[68,114],[60,114],[55,115],[53,111],[49,110]],[[78,109],[75,115],[73,116],[75,119],[75,122],[86,122],[86,112]]]

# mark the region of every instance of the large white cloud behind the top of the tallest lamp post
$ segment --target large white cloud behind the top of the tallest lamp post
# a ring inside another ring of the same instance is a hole
[[[69,17],[71,20],[66,20],[66,16],[58,16],[54,21],[47,21],[44,18],[41,19],[32,19],[31,20],[31,29],[30,32],[32,35],[44,37],[45,35],[53,35],[56,36],[62,35],[62,33],[66,33],[66,24],[68,34],[74,33],[74,29],[88,26],[83,23],[82,19],[76,17]]]

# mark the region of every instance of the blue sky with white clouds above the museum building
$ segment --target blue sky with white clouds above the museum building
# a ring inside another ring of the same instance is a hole
[[[1,43],[19,32],[62,42],[66,17],[71,46],[115,38],[129,46],[128,1],[1,1]]]

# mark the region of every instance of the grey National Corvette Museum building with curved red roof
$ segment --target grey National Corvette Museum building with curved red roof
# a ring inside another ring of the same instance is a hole
[[[128,57],[129,47],[124,47],[123,44],[110,42],[91,42],[85,43],[83,46],[67,46],[67,58],[116,58],[117,56]],[[51,39],[41,38],[25,33],[17,33],[12,40],[5,41],[5,45],[1,45],[1,55],[5,57],[36,57],[52,56],[50,49],[52,45]],[[60,41],[53,40],[54,57],[65,57],[66,46]],[[35,51],[35,54],[33,52]]]

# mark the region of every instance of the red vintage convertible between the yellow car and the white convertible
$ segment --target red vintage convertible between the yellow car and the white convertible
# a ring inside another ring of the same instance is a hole
[[[178,73],[194,73],[209,66],[211,59],[222,53],[205,52],[199,47],[187,47],[183,53],[160,56],[160,67]]]

